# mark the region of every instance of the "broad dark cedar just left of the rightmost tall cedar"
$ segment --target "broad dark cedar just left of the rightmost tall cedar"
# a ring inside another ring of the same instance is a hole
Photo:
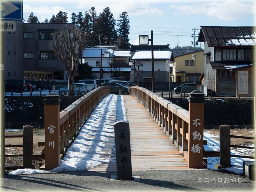
[[[113,13],[106,7],[96,19],[96,28],[102,34],[100,36],[102,44],[114,44],[117,38],[115,26],[116,20],[114,19]]]

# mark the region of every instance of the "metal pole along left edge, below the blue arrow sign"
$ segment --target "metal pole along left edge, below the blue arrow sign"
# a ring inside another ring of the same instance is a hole
[[[1,130],[1,177],[5,173],[4,156],[4,32],[0,32],[0,130]]]

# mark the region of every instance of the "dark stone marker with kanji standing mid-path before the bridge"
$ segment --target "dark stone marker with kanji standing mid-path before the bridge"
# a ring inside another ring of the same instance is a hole
[[[116,143],[117,178],[132,180],[132,157],[129,122],[117,121],[114,124]]]

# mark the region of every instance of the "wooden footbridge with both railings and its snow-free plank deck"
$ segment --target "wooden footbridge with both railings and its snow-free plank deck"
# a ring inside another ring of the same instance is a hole
[[[45,96],[45,164],[51,170],[60,165],[97,104],[110,93],[97,88],[59,112],[60,100],[54,93]],[[189,111],[141,87],[130,87],[124,95],[130,124],[132,170],[172,170],[203,167],[203,93],[190,93]],[[108,147],[115,148],[114,139]],[[109,153],[109,148],[106,149]],[[116,163],[103,163],[89,171],[114,171]]]

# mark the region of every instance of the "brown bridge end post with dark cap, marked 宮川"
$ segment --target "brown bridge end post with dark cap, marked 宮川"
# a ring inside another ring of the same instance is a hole
[[[60,99],[54,92],[44,96],[45,169],[60,165]]]

